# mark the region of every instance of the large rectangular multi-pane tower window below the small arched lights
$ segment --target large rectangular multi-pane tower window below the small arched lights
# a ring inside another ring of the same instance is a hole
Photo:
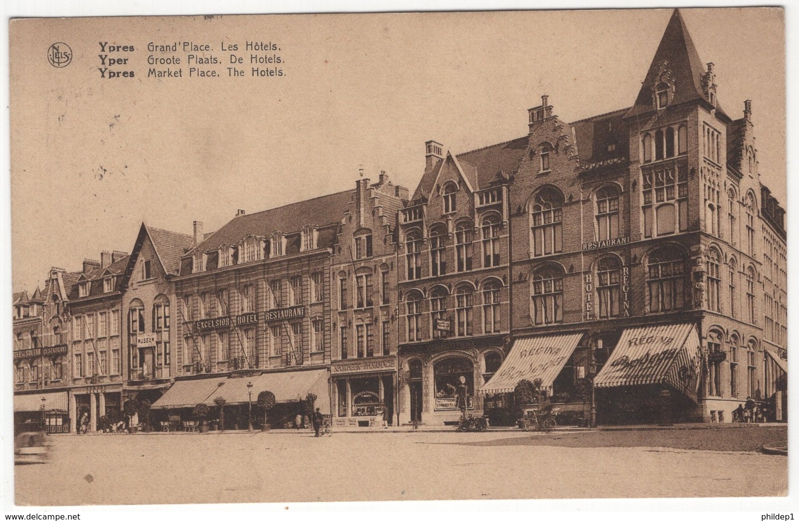
[[[688,167],[668,164],[642,171],[644,235],[688,229]],[[676,174],[676,175],[675,175]],[[654,208],[654,210],[653,210]]]

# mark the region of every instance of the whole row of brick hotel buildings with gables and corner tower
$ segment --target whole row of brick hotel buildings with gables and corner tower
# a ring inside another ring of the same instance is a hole
[[[675,10],[631,107],[566,123],[543,96],[518,139],[428,141],[412,195],[361,172],[212,233],[142,225],[15,295],[15,411],[74,430],[268,389],[287,417],[313,393],[337,425],[443,424],[463,377],[496,422],[523,378],[575,416],[593,386],[600,422],[654,421],[663,390],[729,421],[785,390],[785,211],[714,79]]]

